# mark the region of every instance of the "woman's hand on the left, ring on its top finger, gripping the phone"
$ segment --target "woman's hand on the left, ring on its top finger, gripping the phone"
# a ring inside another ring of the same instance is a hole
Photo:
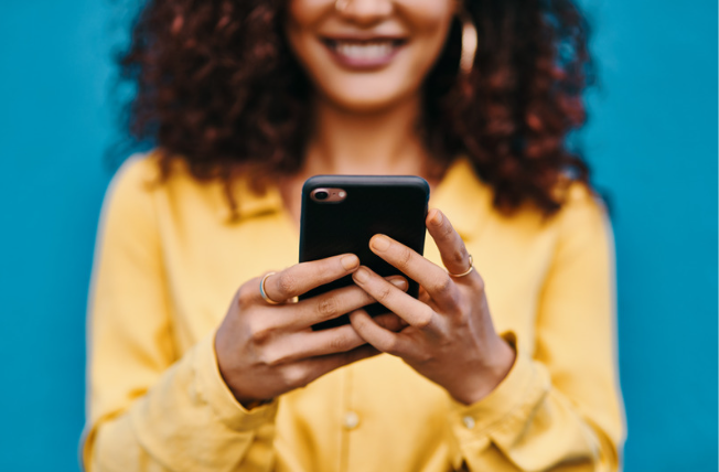
[[[352,254],[298,264],[268,277],[266,294],[270,300],[291,300],[357,267],[360,259]],[[389,280],[399,287],[397,290],[408,287],[401,277]],[[272,305],[260,296],[260,282],[261,278],[256,278],[239,288],[215,336],[219,372],[243,405],[302,387],[330,371],[378,353],[350,324],[323,331],[311,328],[374,303],[360,287]],[[377,323],[398,330],[401,322],[388,313],[378,317]]]

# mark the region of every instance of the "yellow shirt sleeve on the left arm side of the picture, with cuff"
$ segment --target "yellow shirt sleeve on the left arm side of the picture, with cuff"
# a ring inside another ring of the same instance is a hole
[[[235,400],[214,333],[181,357],[174,352],[150,165],[126,163],[103,210],[88,304],[85,470],[269,471],[277,404],[248,411]]]

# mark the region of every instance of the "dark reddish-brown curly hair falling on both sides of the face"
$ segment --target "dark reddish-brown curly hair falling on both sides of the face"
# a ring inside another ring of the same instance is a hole
[[[256,182],[299,170],[308,137],[309,82],[282,31],[287,0],[148,0],[120,57],[137,87],[127,104],[136,142],[160,153],[162,175],[183,159],[201,181]],[[593,79],[588,24],[571,0],[469,0],[479,46],[471,74],[458,72],[461,23],[425,84],[421,130],[449,164],[472,161],[511,213],[533,203],[550,215],[589,170],[569,149],[586,121]]]

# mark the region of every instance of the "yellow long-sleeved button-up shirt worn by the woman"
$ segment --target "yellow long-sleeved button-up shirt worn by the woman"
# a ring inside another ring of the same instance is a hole
[[[277,189],[258,196],[240,182],[237,200],[232,221],[218,183],[180,169],[158,184],[152,155],[115,178],[89,302],[89,471],[619,469],[612,240],[586,189],[550,218],[507,217],[458,160],[431,195],[517,350],[507,377],[469,406],[382,354],[243,408],[218,373],[214,333],[243,282],[297,264],[298,230]],[[440,261],[429,237],[426,257]]]

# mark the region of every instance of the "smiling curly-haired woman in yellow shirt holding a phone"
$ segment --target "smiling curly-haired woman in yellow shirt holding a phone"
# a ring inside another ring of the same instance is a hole
[[[155,0],[124,66],[158,151],[104,211],[88,470],[619,468],[569,1]],[[300,186],[326,173],[428,180],[425,257],[369,243],[419,300],[354,255],[297,264]]]

